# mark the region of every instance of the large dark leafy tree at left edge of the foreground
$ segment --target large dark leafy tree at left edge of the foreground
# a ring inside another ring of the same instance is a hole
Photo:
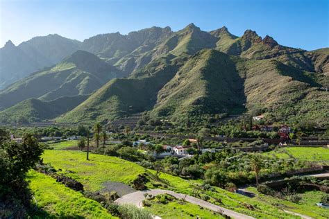
[[[4,209],[15,207],[12,218],[25,218],[22,213],[31,200],[26,173],[40,161],[42,152],[32,134],[24,135],[22,143],[8,139],[0,143],[0,202],[4,203],[1,206]]]

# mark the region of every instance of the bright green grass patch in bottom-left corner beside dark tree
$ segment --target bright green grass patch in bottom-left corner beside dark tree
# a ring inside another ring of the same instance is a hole
[[[39,209],[33,218],[115,218],[99,202],[85,198],[47,175],[31,170],[27,180]]]

